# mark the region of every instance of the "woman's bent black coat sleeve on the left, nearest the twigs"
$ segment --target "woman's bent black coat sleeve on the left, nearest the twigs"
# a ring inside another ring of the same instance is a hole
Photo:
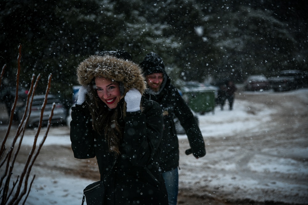
[[[74,157],[89,159],[95,157],[92,121],[85,103],[72,107],[71,143]]]

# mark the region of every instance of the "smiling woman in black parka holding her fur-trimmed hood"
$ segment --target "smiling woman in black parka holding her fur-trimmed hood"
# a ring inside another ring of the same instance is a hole
[[[75,158],[96,157],[104,204],[167,205],[158,164],[162,110],[142,97],[140,67],[126,51],[105,51],[81,62],[77,77],[82,87],[71,113],[71,146]]]

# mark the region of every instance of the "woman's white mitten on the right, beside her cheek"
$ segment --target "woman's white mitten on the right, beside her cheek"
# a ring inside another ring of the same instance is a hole
[[[136,112],[140,110],[141,93],[139,90],[135,88],[129,90],[124,100],[126,102],[126,112]]]

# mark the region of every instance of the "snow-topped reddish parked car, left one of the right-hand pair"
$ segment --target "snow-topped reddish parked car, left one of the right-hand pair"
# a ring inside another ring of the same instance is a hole
[[[251,75],[244,81],[247,91],[263,91],[270,89],[269,80],[263,75]]]

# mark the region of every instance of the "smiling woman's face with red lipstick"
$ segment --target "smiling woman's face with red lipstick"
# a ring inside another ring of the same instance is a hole
[[[110,81],[106,78],[96,77],[95,86],[98,97],[106,103],[110,109],[116,108],[121,99],[119,83]]]

